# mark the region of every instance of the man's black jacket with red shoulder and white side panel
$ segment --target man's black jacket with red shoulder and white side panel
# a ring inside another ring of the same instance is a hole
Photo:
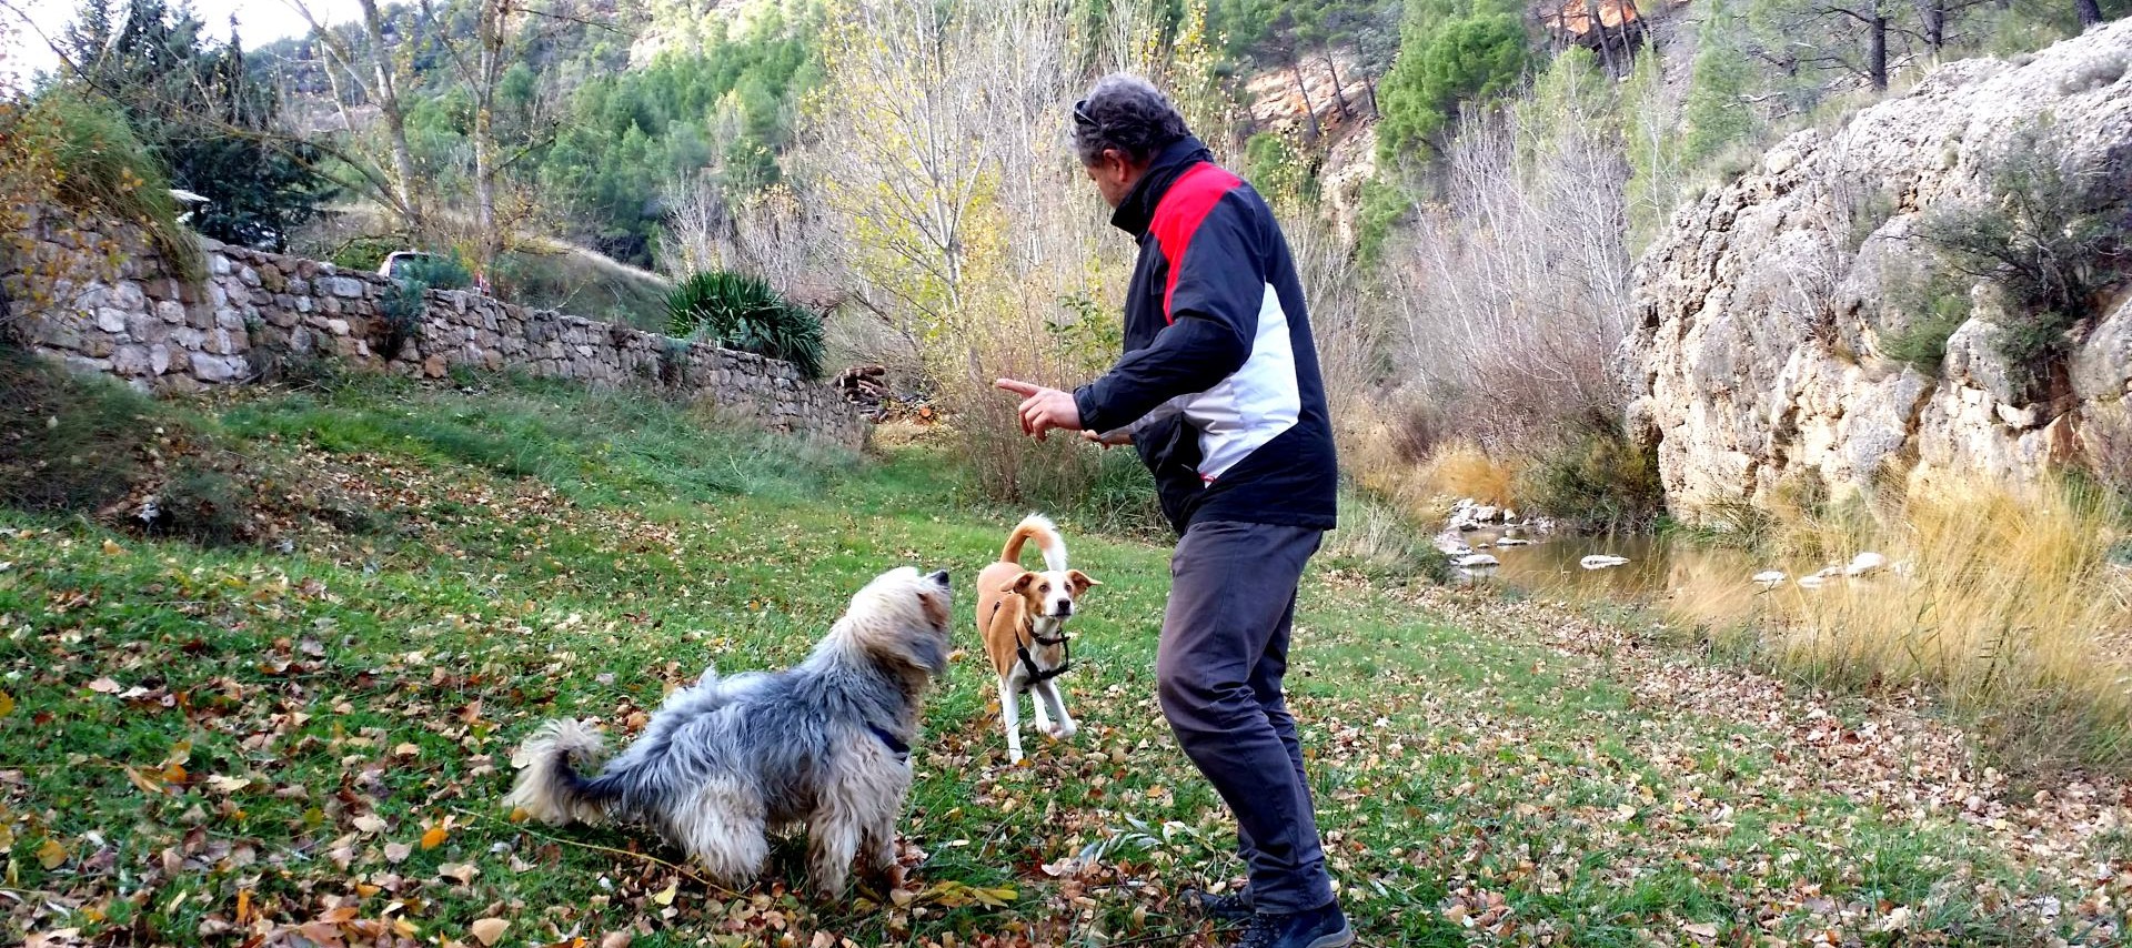
[[[1141,258],[1126,358],[1075,392],[1081,426],[1132,430],[1177,533],[1194,520],[1332,528],[1332,424],[1273,211],[1183,138],[1111,224],[1141,241]]]

